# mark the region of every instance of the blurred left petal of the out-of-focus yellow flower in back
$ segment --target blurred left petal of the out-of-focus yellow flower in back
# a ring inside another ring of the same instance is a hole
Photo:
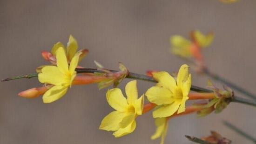
[[[170,38],[171,51],[174,54],[180,55],[182,57],[189,57],[192,55],[190,52],[189,46],[191,42],[182,36],[174,35]]]

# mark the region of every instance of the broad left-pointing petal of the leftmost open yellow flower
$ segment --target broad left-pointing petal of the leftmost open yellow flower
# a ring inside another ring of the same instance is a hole
[[[42,73],[38,74],[38,80],[41,83],[49,83],[52,85],[62,85],[67,83],[67,78],[63,75],[56,66],[44,66],[41,69]]]

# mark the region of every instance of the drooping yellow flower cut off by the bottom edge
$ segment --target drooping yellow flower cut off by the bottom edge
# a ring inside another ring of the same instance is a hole
[[[161,137],[161,143],[164,143],[164,138],[168,130],[168,118],[155,118],[155,133],[151,136],[151,139]]]

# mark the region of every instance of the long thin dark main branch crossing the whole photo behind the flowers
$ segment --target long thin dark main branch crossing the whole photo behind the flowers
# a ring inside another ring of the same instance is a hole
[[[118,71],[115,71],[115,70],[109,70],[109,71],[118,72]],[[86,73],[86,72],[87,73],[94,73],[94,72],[102,72],[103,73],[103,71],[97,70],[97,69],[94,69],[94,68],[80,68],[80,69],[76,69],[76,72],[77,73]],[[34,77],[37,77],[37,73],[20,75],[20,76],[13,77],[13,78],[3,79],[1,81],[4,82],[4,81],[9,81],[9,80],[14,80],[14,79],[22,79],[22,78],[30,79],[30,78],[34,78]],[[137,74],[137,73],[134,73],[134,72],[129,72],[129,74],[126,76],[126,78],[128,78],[128,79],[139,79],[139,80],[144,80],[144,81],[157,83],[157,81],[155,81],[155,79],[153,79],[152,77],[142,75],[142,74]],[[205,89],[205,88],[195,86],[195,85],[191,85],[190,90],[195,91],[195,92],[213,92],[212,90]],[[240,98],[240,97],[237,97],[237,96],[234,96],[234,97],[230,98],[230,102],[236,102],[236,103],[256,106],[256,101]]]

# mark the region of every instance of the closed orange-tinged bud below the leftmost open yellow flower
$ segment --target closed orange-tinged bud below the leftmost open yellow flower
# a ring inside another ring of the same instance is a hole
[[[26,91],[20,92],[18,95],[24,98],[36,98],[44,94],[49,88],[50,88],[49,86],[34,87],[32,89],[28,89]]]

